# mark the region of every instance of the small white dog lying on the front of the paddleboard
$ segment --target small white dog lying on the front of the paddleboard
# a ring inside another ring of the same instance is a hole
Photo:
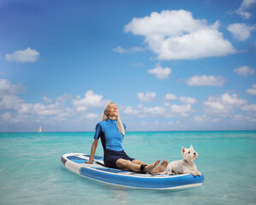
[[[182,156],[183,160],[170,162],[164,173],[170,175],[191,173],[193,176],[202,176],[202,174],[197,170],[195,164],[193,163],[193,160],[195,160],[198,156],[198,154],[193,150],[193,145],[191,145],[189,149],[182,147]]]

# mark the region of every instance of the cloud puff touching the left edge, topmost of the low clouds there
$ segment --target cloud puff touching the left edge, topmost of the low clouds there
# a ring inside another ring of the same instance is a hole
[[[14,85],[8,79],[0,79],[0,96],[15,95],[25,91],[25,86],[20,84]]]

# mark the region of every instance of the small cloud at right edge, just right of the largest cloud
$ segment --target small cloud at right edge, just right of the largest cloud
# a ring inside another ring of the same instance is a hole
[[[247,38],[250,38],[251,32],[253,30],[256,30],[255,26],[247,26],[247,24],[244,23],[235,23],[235,24],[230,24],[228,26],[229,32],[232,32],[233,36],[240,40],[240,41],[245,41]]]

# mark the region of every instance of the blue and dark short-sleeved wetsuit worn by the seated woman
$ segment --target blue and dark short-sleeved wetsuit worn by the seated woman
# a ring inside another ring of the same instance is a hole
[[[126,126],[122,124],[124,129]],[[116,167],[118,159],[133,161],[134,158],[129,157],[122,149],[123,135],[118,131],[116,120],[104,120],[96,125],[94,139],[101,139],[104,149],[104,165],[106,167]]]

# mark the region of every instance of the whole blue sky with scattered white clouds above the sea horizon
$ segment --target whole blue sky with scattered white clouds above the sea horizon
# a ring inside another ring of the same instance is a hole
[[[0,132],[256,127],[256,1],[0,3]]]

